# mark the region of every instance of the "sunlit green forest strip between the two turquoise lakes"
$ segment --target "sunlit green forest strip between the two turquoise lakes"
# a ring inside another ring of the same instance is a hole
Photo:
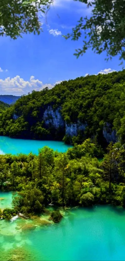
[[[98,149],[87,139],[66,153],[49,147],[38,156],[0,155],[0,189],[16,191],[13,209],[0,212],[3,218],[24,213],[26,216],[45,211],[47,204],[56,206],[92,206],[112,203],[125,206],[125,147],[111,142],[104,160],[99,162]],[[56,212],[56,220],[58,215]]]

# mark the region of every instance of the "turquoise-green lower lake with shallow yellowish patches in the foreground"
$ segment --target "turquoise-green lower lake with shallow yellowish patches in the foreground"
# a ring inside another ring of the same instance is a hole
[[[0,221],[1,261],[125,260],[125,210],[122,208],[72,209],[59,224],[35,229],[32,224],[33,221],[21,218]]]

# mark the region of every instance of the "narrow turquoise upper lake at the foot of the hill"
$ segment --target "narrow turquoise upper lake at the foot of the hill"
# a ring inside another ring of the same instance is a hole
[[[31,151],[33,154],[38,154],[38,149],[44,146],[48,146],[54,151],[58,150],[59,152],[65,152],[69,147],[72,147],[60,141],[23,140],[0,136],[0,154],[29,154]]]

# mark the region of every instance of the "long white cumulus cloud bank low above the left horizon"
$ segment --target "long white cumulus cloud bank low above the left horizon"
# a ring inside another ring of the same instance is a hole
[[[23,95],[28,94],[32,90],[40,91],[45,87],[51,89],[60,82],[55,82],[53,85],[50,83],[43,84],[42,81],[35,79],[34,76],[31,76],[29,81],[25,81],[17,75],[14,78],[7,77],[5,80],[0,79],[0,92],[1,94]]]

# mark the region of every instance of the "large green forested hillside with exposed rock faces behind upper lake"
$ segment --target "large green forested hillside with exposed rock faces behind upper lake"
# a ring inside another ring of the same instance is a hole
[[[32,91],[2,113],[0,134],[107,146],[125,141],[125,70]]]

